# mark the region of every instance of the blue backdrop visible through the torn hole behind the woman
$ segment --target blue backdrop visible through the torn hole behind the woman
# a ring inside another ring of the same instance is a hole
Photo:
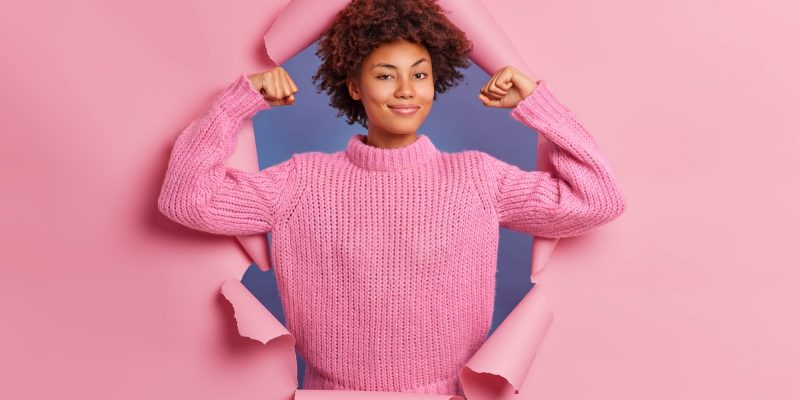
[[[321,61],[312,43],[282,67],[298,86],[296,103],[274,107],[253,117],[260,168],[308,151],[334,153],[344,150],[355,133],[366,134],[361,125],[348,125],[344,117],[328,105],[330,98],[317,92],[311,76]],[[465,79],[458,87],[437,94],[428,118],[417,131],[430,137],[443,152],[480,150],[526,171],[536,166],[537,132],[509,115],[510,109],[485,107],[478,92],[490,75],[470,63],[462,70]],[[248,71],[252,74],[259,71]],[[532,237],[500,229],[497,262],[497,289],[491,332],[497,328],[527,293],[530,283]],[[270,238],[271,246],[271,238]],[[273,270],[262,272],[255,264],[245,272],[244,285],[285,324]],[[305,364],[298,354],[298,378],[302,388]]]

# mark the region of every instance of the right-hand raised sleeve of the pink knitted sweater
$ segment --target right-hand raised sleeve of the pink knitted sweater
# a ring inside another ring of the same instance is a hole
[[[523,171],[482,153],[501,227],[533,236],[569,237],[624,212],[623,192],[608,161],[545,81],[539,81],[511,116],[552,142],[548,157],[554,171]]]

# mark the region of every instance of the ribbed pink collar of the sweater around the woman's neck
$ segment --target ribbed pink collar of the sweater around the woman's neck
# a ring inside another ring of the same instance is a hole
[[[398,171],[429,161],[438,153],[426,135],[417,135],[414,143],[403,147],[385,149],[364,143],[367,135],[355,134],[347,142],[345,154],[350,161],[364,169]]]

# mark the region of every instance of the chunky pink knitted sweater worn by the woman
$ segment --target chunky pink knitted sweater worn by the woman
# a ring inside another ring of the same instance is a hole
[[[306,389],[461,394],[458,371],[491,325],[499,227],[575,236],[625,209],[608,162],[545,81],[511,117],[552,141],[555,173],[442,152],[426,135],[383,149],[355,134],[343,151],[260,172],[223,165],[244,119],[265,109],[242,73],[178,136],[158,207],[201,231],[272,232]]]

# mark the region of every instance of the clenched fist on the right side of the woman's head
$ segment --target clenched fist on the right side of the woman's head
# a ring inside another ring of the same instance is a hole
[[[512,66],[500,68],[483,86],[478,98],[487,107],[514,108],[538,84]]]

